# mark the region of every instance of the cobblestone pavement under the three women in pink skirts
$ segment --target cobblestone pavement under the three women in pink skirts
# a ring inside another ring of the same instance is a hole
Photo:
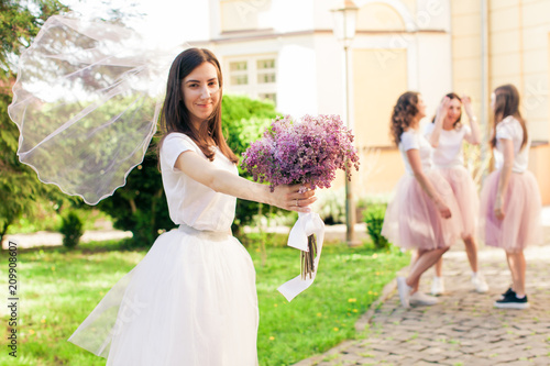
[[[550,241],[546,242],[525,252],[527,310],[493,308],[510,284],[504,251],[480,251],[490,291],[476,293],[465,253],[457,245],[444,256],[447,293],[438,304],[402,308],[394,280],[386,286],[386,300],[356,324],[362,331],[370,322],[365,339],[346,341],[295,366],[550,365]],[[432,275],[430,269],[422,277],[425,292]]]

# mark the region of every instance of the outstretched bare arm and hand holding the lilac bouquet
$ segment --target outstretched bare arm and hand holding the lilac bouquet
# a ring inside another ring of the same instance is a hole
[[[317,200],[312,190],[299,193],[299,185],[280,185],[275,187],[275,191],[272,192],[270,186],[256,184],[230,171],[218,169],[193,151],[179,154],[174,166],[191,179],[217,192],[276,206],[285,210],[310,212],[308,206]]]

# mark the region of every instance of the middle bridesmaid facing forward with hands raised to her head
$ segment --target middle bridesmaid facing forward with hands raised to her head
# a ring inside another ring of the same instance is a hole
[[[470,125],[462,124],[462,104]],[[479,145],[481,131],[472,111],[469,97],[462,99],[454,92],[448,93],[438,108],[432,123],[426,127],[426,137],[433,146],[433,165],[447,179],[457,197],[464,231],[462,240],[472,268],[472,285],[477,292],[487,292],[488,286],[477,267],[477,243],[475,234],[479,222],[480,200],[472,176],[464,167],[463,142]],[[444,292],[442,277],[443,258],[436,264],[436,277],[431,286],[432,295]]]

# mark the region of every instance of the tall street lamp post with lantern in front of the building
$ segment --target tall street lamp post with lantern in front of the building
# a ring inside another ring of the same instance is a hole
[[[345,69],[345,125],[350,125],[350,79],[349,79],[349,48],[355,37],[355,23],[359,8],[352,0],[344,0],[341,7],[333,9],[334,35],[343,42]],[[353,203],[352,181],[345,179],[345,241],[348,245],[355,244],[355,206]]]

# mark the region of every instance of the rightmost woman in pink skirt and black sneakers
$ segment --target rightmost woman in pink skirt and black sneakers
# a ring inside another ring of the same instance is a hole
[[[504,85],[492,95],[494,126],[491,146],[495,170],[481,195],[482,235],[485,243],[502,247],[512,274],[512,287],[495,302],[496,308],[527,309],[524,248],[542,239],[541,198],[532,173],[527,170],[529,135],[519,113],[519,93]]]

